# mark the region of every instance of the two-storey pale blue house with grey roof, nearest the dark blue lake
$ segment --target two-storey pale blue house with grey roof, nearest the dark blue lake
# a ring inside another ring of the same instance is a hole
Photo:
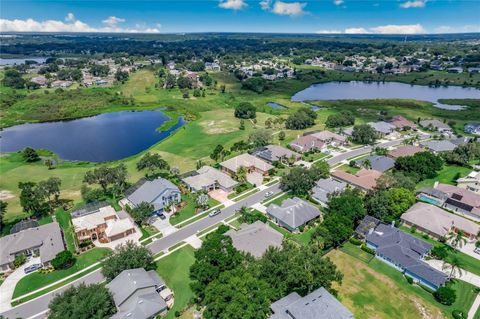
[[[143,179],[127,191],[126,203],[131,208],[142,202],[153,205],[155,213],[161,213],[169,205],[180,203],[181,193],[178,187],[164,178]]]

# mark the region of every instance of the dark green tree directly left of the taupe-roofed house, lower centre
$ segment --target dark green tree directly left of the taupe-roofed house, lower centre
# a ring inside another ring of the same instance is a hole
[[[224,236],[228,226],[220,226],[206,236],[202,247],[195,251],[195,263],[190,267],[191,287],[198,300],[203,300],[205,288],[224,271],[232,270],[243,261],[242,254]]]

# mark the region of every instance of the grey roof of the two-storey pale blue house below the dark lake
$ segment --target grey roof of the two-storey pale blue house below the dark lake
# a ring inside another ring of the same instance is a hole
[[[127,196],[127,199],[134,205],[142,202],[152,203],[163,194],[169,196],[171,193],[180,193],[178,187],[164,178],[156,178],[154,180],[145,180],[137,189]],[[159,209],[162,207],[155,207]]]

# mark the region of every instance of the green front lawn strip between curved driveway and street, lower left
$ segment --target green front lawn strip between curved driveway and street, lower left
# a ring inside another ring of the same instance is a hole
[[[64,270],[55,270],[47,274],[41,274],[39,272],[31,273],[22,278],[15,287],[13,292],[13,298],[20,297],[24,294],[32,292],[34,290],[45,287],[55,281],[70,276],[82,269],[96,263],[103,259],[108,253],[107,248],[94,248],[76,257],[75,264]]]

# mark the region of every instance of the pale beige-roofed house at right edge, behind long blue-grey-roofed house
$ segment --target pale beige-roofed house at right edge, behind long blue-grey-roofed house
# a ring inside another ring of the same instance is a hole
[[[402,215],[401,220],[406,225],[416,227],[417,230],[437,239],[461,230],[469,239],[473,240],[480,232],[480,225],[477,223],[422,202],[410,207]]]

